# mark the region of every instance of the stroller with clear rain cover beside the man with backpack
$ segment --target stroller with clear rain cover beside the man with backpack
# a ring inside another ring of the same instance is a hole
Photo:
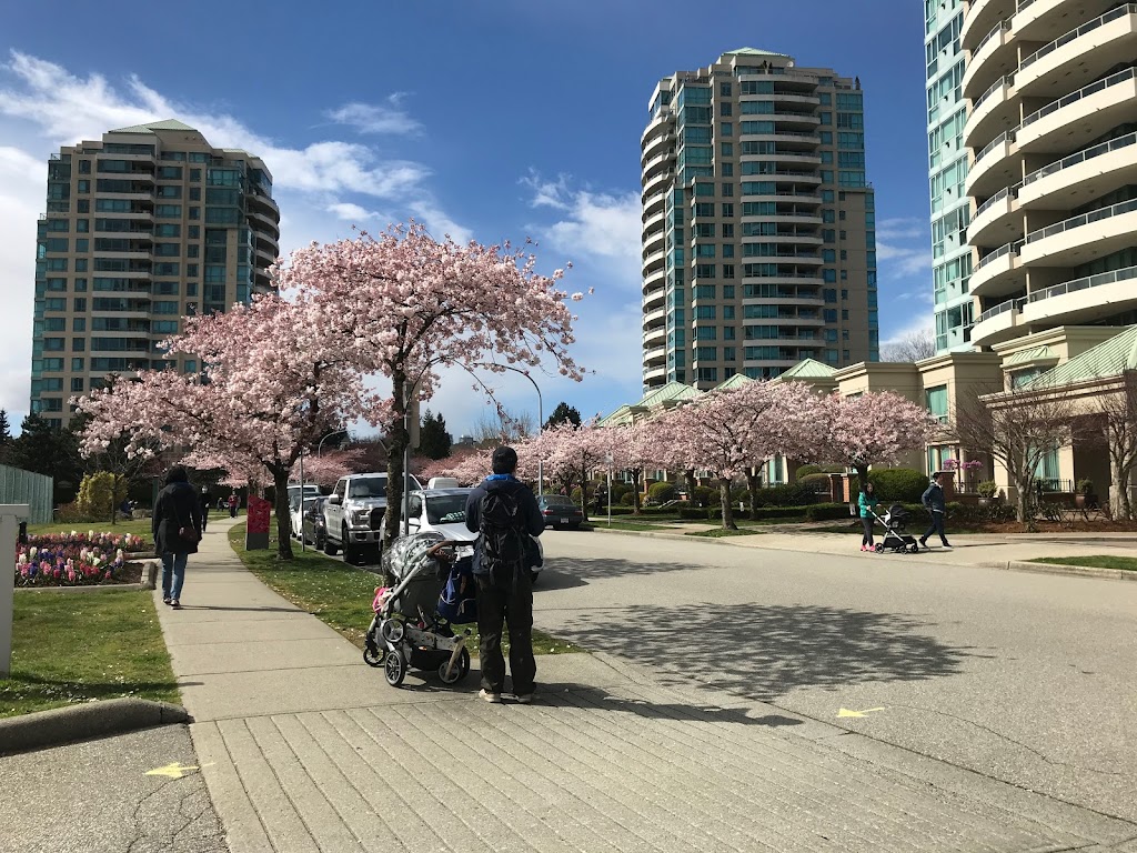
[[[456,635],[438,612],[449,563],[438,560],[430,549],[443,541],[433,531],[412,533],[396,539],[383,554],[384,569],[395,578],[395,586],[375,590],[375,616],[367,629],[363,660],[371,666],[382,665],[391,687],[401,685],[412,666],[437,670],[446,685],[460,681],[470,672],[470,630]],[[458,573],[463,561],[468,569],[471,558],[467,555],[458,560]]]

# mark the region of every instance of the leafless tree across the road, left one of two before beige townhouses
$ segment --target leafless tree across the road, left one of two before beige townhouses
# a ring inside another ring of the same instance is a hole
[[[955,432],[964,445],[985,449],[1003,463],[1016,494],[1019,521],[1034,530],[1027,503],[1043,457],[1070,444],[1074,409],[1069,398],[1048,392],[993,389],[956,400]]]

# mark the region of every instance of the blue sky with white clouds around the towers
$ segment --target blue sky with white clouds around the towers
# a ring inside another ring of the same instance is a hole
[[[661,77],[741,47],[858,75],[877,190],[881,339],[931,325],[922,7],[912,0],[14,3],[0,13],[0,407],[27,409],[45,160],[111,127],[180,118],[273,172],[283,251],[410,216],[574,264],[586,416],[640,396],[639,138]],[[190,71],[192,69],[192,71]],[[497,381],[536,421],[532,387]],[[431,406],[485,416],[468,380]]]

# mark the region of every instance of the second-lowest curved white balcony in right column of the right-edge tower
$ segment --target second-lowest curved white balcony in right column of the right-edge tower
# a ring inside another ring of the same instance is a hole
[[[1022,262],[1073,266],[1128,248],[1137,234],[1137,199],[1073,216],[1027,234]],[[974,275],[972,275],[974,282]],[[972,285],[972,290],[974,287]]]

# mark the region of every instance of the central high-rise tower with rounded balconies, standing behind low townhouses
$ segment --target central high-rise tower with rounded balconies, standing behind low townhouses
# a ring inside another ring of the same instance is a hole
[[[645,389],[878,359],[858,80],[731,51],[659,81],[640,152]]]

